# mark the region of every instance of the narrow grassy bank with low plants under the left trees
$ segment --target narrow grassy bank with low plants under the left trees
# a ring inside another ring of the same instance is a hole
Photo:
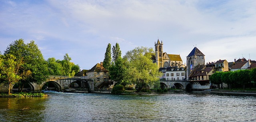
[[[47,94],[44,93],[31,93],[31,92],[19,92],[19,93],[11,93],[10,95],[6,93],[1,93],[0,97],[44,97],[48,96]]]

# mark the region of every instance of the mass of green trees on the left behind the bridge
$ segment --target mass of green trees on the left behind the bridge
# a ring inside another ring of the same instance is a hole
[[[65,54],[63,60],[55,58],[44,59],[38,46],[32,40],[25,44],[23,39],[15,40],[4,51],[0,52],[0,83],[8,84],[10,94],[11,84],[18,84],[22,92],[26,82],[41,84],[48,75],[74,76],[80,71],[80,66],[70,62]]]

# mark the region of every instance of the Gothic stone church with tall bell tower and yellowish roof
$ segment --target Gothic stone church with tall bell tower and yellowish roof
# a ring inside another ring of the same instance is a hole
[[[161,41],[160,43],[159,39],[157,43],[155,42],[155,56],[152,57],[152,60],[157,64],[158,68],[171,66],[184,67],[180,55],[163,52],[163,42]]]

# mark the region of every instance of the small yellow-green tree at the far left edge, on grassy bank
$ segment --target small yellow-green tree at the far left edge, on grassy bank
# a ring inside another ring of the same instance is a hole
[[[21,74],[19,74],[22,60],[17,60],[11,54],[6,54],[4,58],[2,57],[0,57],[0,82],[8,83],[8,94],[10,94],[11,84],[17,83],[22,78]]]

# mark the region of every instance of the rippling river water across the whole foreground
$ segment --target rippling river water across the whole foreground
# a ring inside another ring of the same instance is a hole
[[[0,122],[256,121],[256,96],[173,91],[144,95],[47,94],[50,96],[0,98]]]

